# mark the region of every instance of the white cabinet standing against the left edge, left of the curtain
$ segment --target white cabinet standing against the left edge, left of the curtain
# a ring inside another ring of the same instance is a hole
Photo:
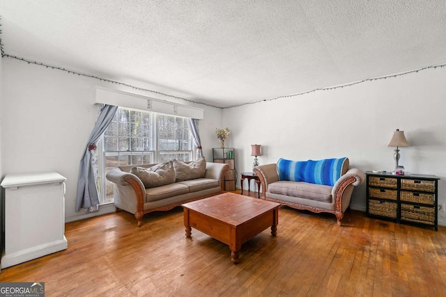
[[[5,249],[1,268],[67,248],[65,181],[57,172],[10,174],[3,179]]]

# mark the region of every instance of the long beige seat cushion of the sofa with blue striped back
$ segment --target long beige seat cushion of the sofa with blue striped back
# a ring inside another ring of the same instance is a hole
[[[321,184],[288,181],[273,182],[269,184],[268,192],[329,203],[332,202],[332,186]]]

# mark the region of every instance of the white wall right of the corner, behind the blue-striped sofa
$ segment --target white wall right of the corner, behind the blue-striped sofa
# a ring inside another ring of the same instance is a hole
[[[413,146],[401,147],[399,163],[406,171],[440,177],[438,202],[443,204],[445,81],[443,67],[224,109],[223,126],[231,129],[226,143],[236,148],[239,173],[252,169],[252,144],[262,145],[259,163],[263,164],[280,157],[298,161],[348,156],[351,166],[360,170],[392,171],[394,148],[385,145],[400,129]],[[365,211],[365,207],[362,184],[355,188],[351,208]],[[446,225],[445,213],[438,219]]]

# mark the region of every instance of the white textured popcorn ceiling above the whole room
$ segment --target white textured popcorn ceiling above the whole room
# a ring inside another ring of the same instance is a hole
[[[1,0],[3,51],[234,106],[446,63],[443,0]]]

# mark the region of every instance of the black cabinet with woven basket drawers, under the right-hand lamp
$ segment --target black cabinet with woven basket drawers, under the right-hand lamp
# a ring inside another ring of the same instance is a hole
[[[427,225],[438,231],[438,177],[371,171],[365,174],[369,216]]]

